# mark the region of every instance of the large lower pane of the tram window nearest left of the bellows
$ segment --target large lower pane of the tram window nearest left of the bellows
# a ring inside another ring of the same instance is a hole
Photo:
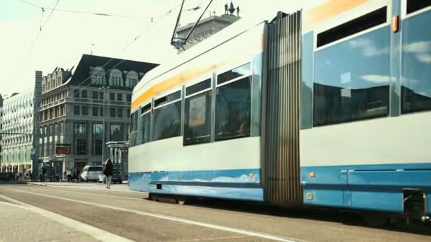
[[[215,141],[250,137],[251,77],[217,88]]]

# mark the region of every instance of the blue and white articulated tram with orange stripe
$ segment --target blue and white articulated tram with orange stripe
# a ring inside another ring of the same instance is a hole
[[[431,1],[313,2],[140,81],[132,190],[429,220]]]

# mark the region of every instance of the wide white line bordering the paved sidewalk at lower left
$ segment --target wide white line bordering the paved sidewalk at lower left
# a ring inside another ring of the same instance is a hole
[[[60,214],[55,214],[55,213],[47,211],[45,209],[41,209],[39,207],[34,207],[33,205],[26,204],[26,203],[18,201],[18,200],[14,200],[11,197],[6,197],[4,195],[0,195],[0,197],[4,200],[15,203],[15,204],[11,204],[11,205],[19,206],[21,208],[28,209],[31,212],[35,212],[36,214],[40,214],[43,217],[47,217],[47,219],[51,219],[53,221],[56,221],[59,224],[64,224],[65,226],[68,226],[68,227],[75,229],[77,231],[80,231],[82,233],[88,234],[89,236],[97,238],[101,241],[124,241],[124,242],[130,242],[131,241],[128,238],[124,238],[124,237],[118,236],[116,234],[111,234],[108,231],[104,231],[104,230],[98,229],[94,226],[90,226],[89,224],[84,224],[80,221],[69,219],[68,217],[64,217]],[[0,202],[0,203],[2,203],[2,202]]]

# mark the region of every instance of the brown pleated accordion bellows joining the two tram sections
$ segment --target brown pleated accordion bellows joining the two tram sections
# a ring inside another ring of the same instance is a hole
[[[267,28],[266,120],[262,179],[265,200],[302,204],[299,163],[301,11],[279,13]]]

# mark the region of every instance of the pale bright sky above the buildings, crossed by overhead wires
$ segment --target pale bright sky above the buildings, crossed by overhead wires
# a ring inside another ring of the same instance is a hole
[[[54,8],[58,0],[25,1]],[[184,11],[181,25],[196,21],[208,2],[186,0],[185,10],[202,8]],[[226,2],[214,0],[209,9],[221,15]],[[242,21],[270,20],[277,11],[296,11],[298,4],[292,2],[233,1],[235,6],[240,6]],[[105,57],[162,64],[177,54],[169,42],[180,3],[181,0],[60,0],[57,11],[45,9],[43,12],[21,0],[0,0],[0,93],[28,90],[34,85],[36,70],[43,71],[45,76],[56,67],[68,69],[79,62],[82,54],[91,54],[91,51]],[[205,17],[208,16],[209,12]]]

